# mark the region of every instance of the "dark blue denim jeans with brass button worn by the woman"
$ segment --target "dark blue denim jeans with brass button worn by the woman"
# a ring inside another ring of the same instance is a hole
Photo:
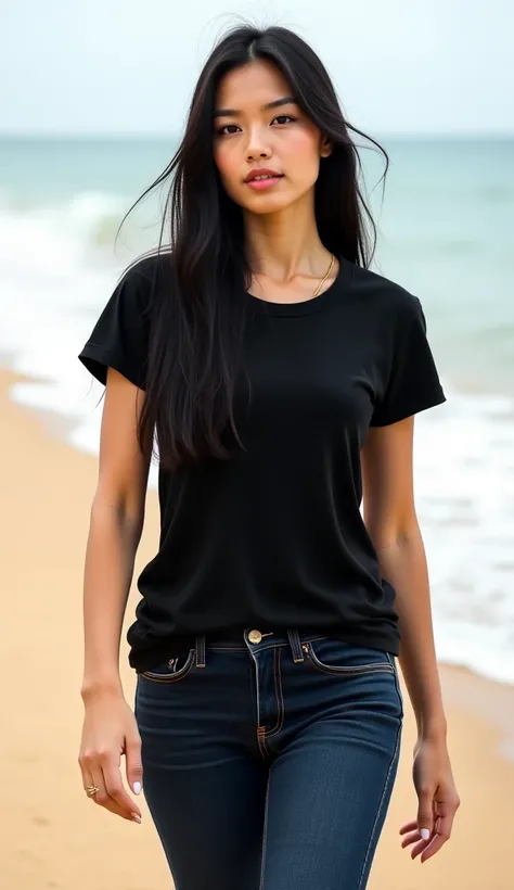
[[[144,793],[176,890],[363,890],[398,766],[395,657],[261,635],[197,637],[138,675]]]

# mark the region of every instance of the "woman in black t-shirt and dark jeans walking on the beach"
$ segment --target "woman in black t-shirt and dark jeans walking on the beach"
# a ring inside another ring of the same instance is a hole
[[[398,765],[397,658],[419,727],[412,857],[459,805],[412,492],[413,415],[445,394],[420,301],[368,268],[350,129],[299,37],[231,29],[157,180],[175,170],[171,250],[125,272],[80,353],[106,383],[82,780],[139,821],[125,753],[178,890],[365,887]],[[132,713],[119,638],[154,431]]]

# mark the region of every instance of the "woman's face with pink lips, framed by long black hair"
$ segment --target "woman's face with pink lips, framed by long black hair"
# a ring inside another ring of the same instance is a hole
[[[267,107],[283,99],[288,101]],[[214,158],[228,194],[244,209],[275,213],[298,201],[313,188],[320,157],[330,151],[271,62],[255,60],[221,78],[215,102]],[[280,178],[260,187],[245,181],[250,170],[264,167]]]

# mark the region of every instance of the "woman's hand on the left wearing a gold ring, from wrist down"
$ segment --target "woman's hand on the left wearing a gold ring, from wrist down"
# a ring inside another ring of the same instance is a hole
[[[141,810],[127,793],[120,772],[125,754],[129,787],[142,784],[141,737],[136,716],[121,692],[97,692],[85,701],[85,708],[78,755],[83,789],[95,785],[100,790],[91,800],[121,818],[141,822]]]

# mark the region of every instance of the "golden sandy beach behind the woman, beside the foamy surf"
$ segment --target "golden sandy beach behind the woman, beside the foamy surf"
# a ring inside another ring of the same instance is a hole
[[[0,372],[3,621],[1,890],[164,890],[171,886],[144,797],[142,825],[101,810],[82,790],[77,763],[83,705],[81,585],[97,460],[63,440],[63,421],[9,400],[21,380]],[[97,410],[101,410],[99,407]],[[149,493],[134,577],[156,547],[158,510]],[[125,694],[136,675],[125,632]],[[415,818],[411,778],[415,724],[406,720],[398,778],[378,844],[371,890],[510,890],[514,826],[514,687],[440,666],[449,748],[462,805],[453,836],[425,864],[402,850],[402,823]],[[123,768],[124,768],[123,762]],[[213,875],[214,890],[223,890]],[[343,885],[342,885],[343,888]],[[316,888],[313,888],[316,890]]]

